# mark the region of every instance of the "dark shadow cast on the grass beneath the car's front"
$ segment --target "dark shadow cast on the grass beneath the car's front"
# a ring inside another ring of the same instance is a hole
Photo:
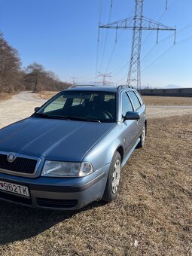
[[[3,201],[0,204],[0,245],[5,245],[37,236],[60,221],[72,218],[79,212],[103,206],[105,203],[93,202],[89,206],[85,206],[84,209],[76,211],[32,209]]]

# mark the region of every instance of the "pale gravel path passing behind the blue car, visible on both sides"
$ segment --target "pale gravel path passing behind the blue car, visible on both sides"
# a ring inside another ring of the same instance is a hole
[[[45,100],[35,99],[35,94],[22,92],[0,102],[0,128],[14,123],[17,120],[29,117],[34,108],[41,106]],[[147,106],[148,118],[180,116],[183,114],[192,114],[192,105],[190,106]]]

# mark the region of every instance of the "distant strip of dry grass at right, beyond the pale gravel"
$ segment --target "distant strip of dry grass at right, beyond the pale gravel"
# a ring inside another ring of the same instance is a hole
[[[192,97],[143,96],[146,105],[192,105]]]

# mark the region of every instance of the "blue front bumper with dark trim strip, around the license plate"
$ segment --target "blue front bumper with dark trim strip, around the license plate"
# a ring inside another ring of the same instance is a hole
[[[101,200],[109,164],[82,178],[24,178],[0,173],[0,180],[29,187],[30,198],[0,190],[0,200],[43,209],[73,210]]]

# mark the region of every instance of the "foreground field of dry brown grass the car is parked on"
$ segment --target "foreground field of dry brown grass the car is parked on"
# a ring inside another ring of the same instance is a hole
[[[51,212],[1,202],[0,254],[192,255],[191,122],[149,120],[113,203]]]

